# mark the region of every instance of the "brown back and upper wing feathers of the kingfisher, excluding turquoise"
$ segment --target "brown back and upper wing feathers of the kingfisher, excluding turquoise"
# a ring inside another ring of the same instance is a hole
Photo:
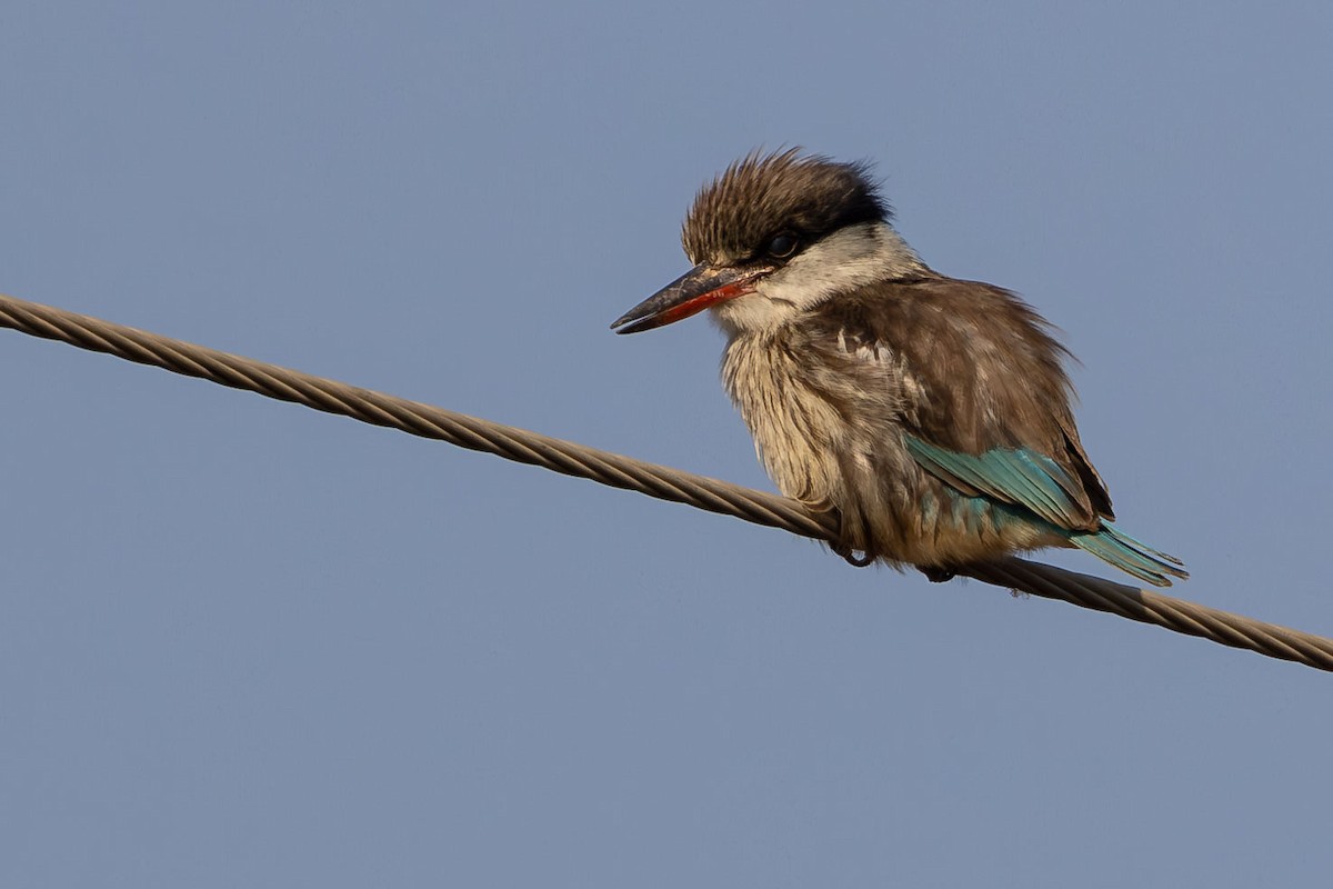
[[[1098,517],[1113,518],[1069,407],[1069,353],[1013,293],[946,277],[893,281],[824,304],[812,323],[813,348],[866,355],[878,345],[894,356],[908,436],[932,450],[973,457],[1004,450],[1046,457],[1062,470],[1052,473],[1068,500],[1061,525],[1094,529]],[[922,465],[964,493],[1024,500],[978,486],[946,462]]]

